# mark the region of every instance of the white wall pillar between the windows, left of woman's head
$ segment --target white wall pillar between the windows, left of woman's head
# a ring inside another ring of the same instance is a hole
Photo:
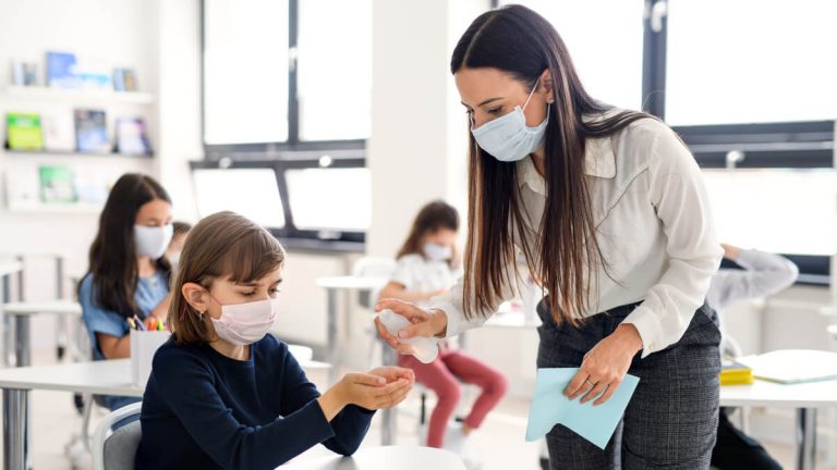
[[[488,8],[487,0],[373,1],[369,255],[392,256],[432,199],[465,208],[468,127],[448,64]]]

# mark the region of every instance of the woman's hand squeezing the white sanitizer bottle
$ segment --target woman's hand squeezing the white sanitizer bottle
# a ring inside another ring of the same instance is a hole
[[[398,299],[383,299],[375,306],[375,311],[392,310],[404,317],[412,323],[398,332],[398,336],[390,334],[379,319],[375,319],[375,327],[378,335],[387,342],[392,349],[399,354],[410,355],[414,352],[411,345],[400,344],[398,338],[409,339],[414,336],[433,337],[444,334],[448,329],[448,316],[442,310],[427,311],[418,308],[415,304],[405,302]]]

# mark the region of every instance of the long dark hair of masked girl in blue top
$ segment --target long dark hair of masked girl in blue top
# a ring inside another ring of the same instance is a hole
[[[108,195],[99,215],[99,231],[90,245],[85,277],[93,276],[94,302],[125,318],[140,314],[134,299],[140,277],[134,245],[136,213],[156,199],[171,203],[169,194],[153,177],[138,173],[122,175]],[[166,258],[151,262],[168,282],[171,265]]]

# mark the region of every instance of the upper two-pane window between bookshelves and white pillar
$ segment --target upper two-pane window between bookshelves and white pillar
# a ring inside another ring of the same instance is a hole
[[[203,9],[207,158],[363,154],[372,0],[203,0]]]

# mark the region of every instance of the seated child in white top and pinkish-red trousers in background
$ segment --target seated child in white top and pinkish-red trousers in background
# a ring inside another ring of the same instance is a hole
[[[421,306],[430,297],[446,294],[461,275],[454,248],[458,230],[459,214],[453,207],[434,201],[422,208],[398,252],[391,281],[381,289],[380,297]],[[422,363],[413,356],[399,356],[398,364],[412,369],[416,381],[438,397],[427,433],[430,447],[444,445],[462,452],[465,437],[480,428],[488,411],[506,394],[506,379],[499,372],[448,344],[440,345],[438,358],[430,363]],[[480,386],[482,393],[462,426],[446,436],[448,421],[460,399],[460,380]]]

